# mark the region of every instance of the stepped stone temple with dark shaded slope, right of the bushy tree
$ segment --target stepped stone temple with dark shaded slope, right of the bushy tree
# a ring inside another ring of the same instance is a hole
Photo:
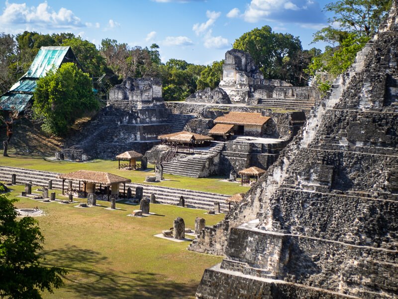
[[[145,152],[158,144],[159,134],[172,130],[162,98],[162,83],[153,78],[127,78],[109,91],[107,106],[69,141],[69,158],[113,158],[125,150]]]

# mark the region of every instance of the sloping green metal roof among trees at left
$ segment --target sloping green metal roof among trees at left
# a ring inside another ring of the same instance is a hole
[[[58,70],[65,62],[73,62],[81,68],[71,47],[41,47],[28,71],[0,97],[0,110],[21,112],[33,97],[36,80],[51,69]]]

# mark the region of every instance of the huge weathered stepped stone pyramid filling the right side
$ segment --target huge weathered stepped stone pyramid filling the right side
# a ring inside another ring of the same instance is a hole
[[[397,298],[397,0],[302,134],[190,250],[197,298]]]

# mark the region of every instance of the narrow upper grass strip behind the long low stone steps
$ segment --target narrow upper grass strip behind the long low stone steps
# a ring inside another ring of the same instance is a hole
[[[152,167],[150,168],[150,171],[119,170],[117,169],[117,161],[99,159],[84,163],[78,163],[55,161],[39,157],[32,158],[24,156],[14,156],[11,154],[10,157],[4,157],[0,155],[0,165],[55,171],[62,173],[67,173],[80,169],[106,171],[123,177],[127,177],[135,183],[145,183],[144,180],[146,176],[155,175],[153,171],[153,165],[148,165],[149,167]],[[234,195],[236,193],[247,192],[247,190],[249,190],[249,187],[242,187],[240,184],[237,183],[219,181],[220,179],[223,179],[225,177],[192,178],[166,173],[164,174],[164,177],[166,180],[151,184],[227,195]]]

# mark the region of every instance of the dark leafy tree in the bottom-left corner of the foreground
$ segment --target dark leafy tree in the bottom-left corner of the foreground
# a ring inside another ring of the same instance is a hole
[[[0,297],[41,298],[40,292],[63,285],[67,271],[41,265],[44,237],[32,217],[16,220],[16,201],[0,194]]]

